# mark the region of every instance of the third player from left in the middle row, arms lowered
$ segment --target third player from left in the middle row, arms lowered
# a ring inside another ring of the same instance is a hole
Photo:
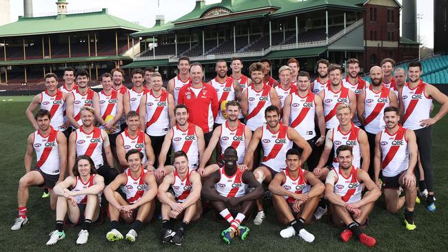
[[[156,157],[152,150],[150,136],[140,129],[140,116],[135,111],[126,114],[126,125],[124,132],[116,138],[116,156],[123,168],[129,167],[125,156],[131,149],[138,149],[143,154],[143,169],[154,171]]]

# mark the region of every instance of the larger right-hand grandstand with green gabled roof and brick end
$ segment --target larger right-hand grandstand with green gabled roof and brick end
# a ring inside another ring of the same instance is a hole
[[[356,58],[363,71],[385,57],[418,57],[418,43],[399,36],[400,8],[392,0],[197,0],[183,17],[159,16],[152,28],[131,34],[141,52],[123,67],[159,67],[170,78],[186,55],[205,65],[206,78],[214,76],[216,60],[234,56],[245,61],[246,73],[252,61],[271,59],[275,70],[290,57],[309,72],[320,58],[339,64]]]

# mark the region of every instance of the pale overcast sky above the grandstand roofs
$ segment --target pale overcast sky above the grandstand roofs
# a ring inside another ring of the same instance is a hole
[[[221,0],[206,0],[206,4]],[[398,0],[400,3],[402,0]],[[33,0],[34,17],[57,13],[56,0]],[[138,22],[147,28],[154,25],[156,15],[163,14],[165,21],[182,17],[194,8],[195,0],[68,0],[68,12],[90,12],[108,8],[108,12],[122,19]],[[159,7],[158,7],[159,2]],[[434,45],[434,0],[417,0],[417,13],[423,14],[420,20],[421,43],[429,48]],[[23,1],[10,0],[11,21],[23,15]]]

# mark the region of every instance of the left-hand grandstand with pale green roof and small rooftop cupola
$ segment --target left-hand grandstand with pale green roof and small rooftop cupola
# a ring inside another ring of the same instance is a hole
[[[57,1],[58,13],[19,17],[0,26],[0,85],[2,90],[43,90],[43,76],[56,73],[63,83],[65,67],[88,70],[94,83],[103,72],[132,62],[130,34],[145,28],[97,12],[68,14],[68,2]],[[137,41],[138,42],[138,41]]]

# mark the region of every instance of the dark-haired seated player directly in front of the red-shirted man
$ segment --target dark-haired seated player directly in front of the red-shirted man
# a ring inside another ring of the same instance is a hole
[[[176,151],[183,151],[188,157],[188,167],[196,170],[199,165],[199,158],[204,153],[205,141],[201,127],[188,123],[188,109],[183,104],[178,104],[174,108],[176,116],[176,125],[168,130],[163,140],[162,149],[159,155],[159,168],[155,175],[157,180],[161,180],[166,174],[173,171],[173,167],[165,167],[170,146]],[[171,152],[171,151],[170,151]]]

